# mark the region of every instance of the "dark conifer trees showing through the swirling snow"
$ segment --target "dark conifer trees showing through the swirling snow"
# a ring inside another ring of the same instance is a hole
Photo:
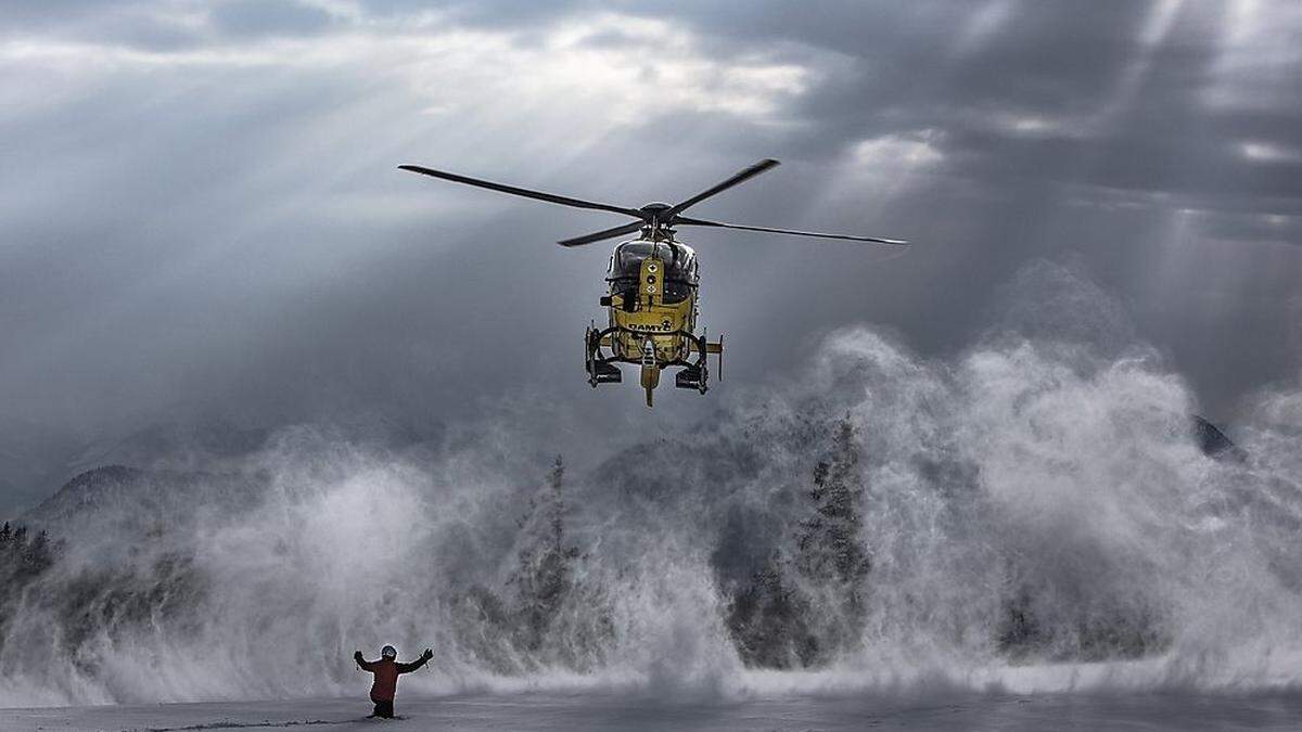
[[[789,529],[745,573],[728,581],[716,576],[724,626],[741,660],[751,667],[824,666],[863,642],[874,556],[871,537],[865,535],[871,494],[859,435],[849,415],[820,430],[824,449],[794,492],[796,514],[784,517]],[[611,597],[617,582],[608,581],[617,569],[605,568],[602,574],[602,563],[592,561],[574,539],[560,456],[530,494],[497,580],[450,587],[441,598],[453,625],[450,638],[503,673],[546,666],[596,668],[617,634],[617,598]],[[148,552],[138,567],[85,569],[64,577],[57,593],[40,593],[36,585],[61,551],[61,542],[43,530],[0,528],[0,645],[9,637],[20,603],[40,606],[59,619],[66,650],[95,633],[112,637],[133,624],[161,620],[181,634],[202,625],[199,613],[210,587],[185,551]],[[717,565],[719,560],[716,570]],[[1013,659],[1052,656],[1064,647],[1083,658],[1139,656],[1169,641],[1156,615],[1118,611],[1103,620],[1082,617],[1075,625],[1046,623],[1032,602],[1043,591],[1009,589],[1003,600],[1005,617],[991,638],[995,650]],[[94,654],[72,655],[94,663]]]

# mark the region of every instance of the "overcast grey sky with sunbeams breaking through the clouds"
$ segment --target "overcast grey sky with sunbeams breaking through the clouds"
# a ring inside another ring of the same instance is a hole
[[[552,244],[622,219],[396,165],[638,206],[768,156],[693,214],[915,246],[690,232],[728,380],[658,425],[846,324],[960,353],[1038,260],[1232,419],[1302,363],[1298,38],[1289,0],[5,3],[4,419],[644,419],[583,380],[608,246]]]

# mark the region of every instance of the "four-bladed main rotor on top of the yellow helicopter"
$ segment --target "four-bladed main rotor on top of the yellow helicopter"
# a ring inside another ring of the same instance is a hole
[[[497,182],[492,182],[492,181],[486,181],[486,180],[479,180],[479,178],[471,178],[469,176],[460,176],[457,173],[449,173],[449,172],[445,172],[445,171],[435,171],[432,168],[426,168],[423,165],[398,165],[398,168],[401,168],[404,171],[410,171],[413,173],[421,173],[423,176],[432,176],[432,177],[436,177],[436,178],[443,178],[445,181],[460,182],[460,184],[473,185],[473,186],[478,186],[478,188],[486,188],[488,190],[496,190],[499,193],[508,193],[510,195],[521,195],[521,197],[525,197],[525,198],[533,198],[535,201],[546,201],[548,203],[556,203],[556,204],[560,204],[560,206],[569,206],[569,207],[573,207],[573,208],[589,208],[589,210],[594,210],[594,211],[609,211],[612,214],[622,214],[625,216],[631,216],[634,219],[638,219],[637,221],[634,221],[631,224],[624,224],[624,225],[620,225],[620,227],[612,227],[609,229],[603,229],[603,231],[599,231],[599,232],[592,232],[592,233],[589,233],[589,234],[583,234],[583,236],[578,236],[578,237],[573,237],[573,238],[561,240],[561,241],[557,242],[561,246],[582,246],[585,244],[592,244],[594,241],[602,241],[602,240],[615,238],[615,237],[624,236],[624,234],[630,234],[630,233],[634,233],[634,232],[637,232],[637,231],[639,231],[642,228],[648,228],[650,229],[650,234],[651,234],[652,240],[658,240],[658,238],[660,238],[663,236],[667,241],[672,242],[673,241],[673,229],[672,228],[677,227],[677,225],[685,225],[685,227],[715,227],[715,228],[723,228],[723,229],[741,229],[741,231],[747,231],[747,232],[763,232],[763,233],[773,233],[773,234],[803,236],[803,237],[814,237],[814,238],[836,238],[836,240],[845,240],[845,241],[866,241],[866,242],[872,242],[872,244],[887,244],[887,245],[893,245],[893,246],[905,246],[905,245],[909,244],[907,241],[897,240],[897,238],[879,238],[879,237],[855,236],[855,234],[832,234],[832,233],[820,233],[820,232],[802,232],[802,231],[796,231],[796,229],[775,229],[775,228],[769,228],[769,227],[753,227],[753,225],[747,225],[747,224],[728,224],[728,223],[724,223],[724,221],[711,221],[711,220],[707,220],[707,219],[693,219],[693,218],[687,218],[687,216],[682,216],[681,215],[684,211],[686,211],[691,206],[695,206],[697,203],[700,203],[702,201],[704,201],[704,199],[707,199],[707,198],[710,198],[712,195],[717,195],[717,194],[720,194],[720,193],[723,193],[723,191],[725,191],[725,190],[728,190],[728,189],[730,189],[730,188],[733,188],[736,185],[746,182],[747,180],[750,180],[750,178],[753,178],[753,177],[755,177],[755,176],[758,176],[758,175],[760,175],[760,173],[763,173],[766,171],[769,171],[769,169],[775,168],[777,164],[779,164],[777,160],[773,160],[772,158],[766,158],[764,160],[760,160],[759,163],[755,163],[754,165],[750,165],[749,168],[738,171],[736,175],[733,175],[732,177],[724,180],[723,182],[719,182],[719,184],[716,184],[713,186],[710,186],[706,190],[703,190],[703,191],[693,195],[691,198],[684,199],[680,203],[676,203],[673,206],[671,206],[668,203],[647,203],[647,204],[642,206],[641,208],[630,208],[630,207],[626,207],[626,206],[615,206],[612,203],[600,203],[600,202],[594,202],[594,201],[583,201],[581,198],[570,198],[570,197],[566,197],[566,195],[556,195],[553,193],[544,193],[544,191],[540,191],[540,190],[530,190],[527,188],[517,188],[517,186],[513,186],[513,185],[504,185],[504,184],[497,184]]]

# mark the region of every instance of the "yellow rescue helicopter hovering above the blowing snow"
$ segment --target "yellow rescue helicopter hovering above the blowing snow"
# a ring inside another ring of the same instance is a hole
[[[624,374],[620,371],[618,363],[638,366],[641,369],[641,384],[646,389],[646,402],[650,408],[654,405],[654,392],[660,383],[660,371],[664,369],[678,367],[678,371],[674,374],[674,387],[697,389],[703,395],[710,388],[710,369],[706,357],[715,354],[719,365],[719,378],[723,379],[723,336],[717,341],[710,341],[706,337],[704,328],[700,330],[700,335],[697,335],[700,264],[697,259],[697,253],[685,242],[676,238],[676,227],[713,227],[815,238],[866,241],[892,246],[906,246],[909,244],[896,238],[775,229],[769,227],[694,219],[682,215],[691,206],[769,171],[777,164],[777,160],[764,159],[680,203],[652,202],[641,208],[569,198],[553,193],[471,178],[445,171],[435,171],[422,165],[398,165],[398,168],[499,193],[521,195],[574,208],[622,214],[635,219],[628,224],[566,238],[557,244],[561,246],[582,246],[595,241],[638,233],[637,238],[630,238],[616,245],[615,251],[611,253],[605,276],[607,293],[600,300],[600,305],[608,313],[607,326],[598,328],[595,320],[589,324],[587,331],[583,333],[583,366],[587,371],[587,382],[592,388],[600,384],[617,384],[622,382]]]

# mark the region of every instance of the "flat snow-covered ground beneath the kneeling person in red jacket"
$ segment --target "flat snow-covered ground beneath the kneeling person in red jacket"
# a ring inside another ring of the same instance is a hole
[[[615,694],[400,698],[402,719],[365,719],[365,699],[0,710],[0,729],[1298,729],[1302,696],[785,697],[665,703]]]

